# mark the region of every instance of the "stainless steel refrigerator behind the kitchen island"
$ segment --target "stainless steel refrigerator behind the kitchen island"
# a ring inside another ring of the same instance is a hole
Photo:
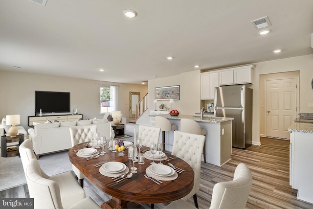
[[[215,115],[233,117],[232,146],[246,149],[252,143],[252,89],[245,85],[215,88]]]

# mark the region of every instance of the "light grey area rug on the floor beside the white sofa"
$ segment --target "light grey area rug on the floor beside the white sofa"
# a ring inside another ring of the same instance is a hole
[[[72,170],[68,151],[40,156],[41,168],[48,176]],[[19,156],[0,159],[0,191],[26,184],[26,178]]]

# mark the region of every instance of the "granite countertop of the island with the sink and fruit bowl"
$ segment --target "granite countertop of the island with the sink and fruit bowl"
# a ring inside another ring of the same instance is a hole
[[[171,116],[170,114],[166,115],[152,115],[152,116],[162,116],[167,119],[175,119],[180,120],[181,118],[192,119],[197,122],[207,122],[207,123],[221,123],[228,120],[233,120],[233,117],[215,117],[215,116],[203,116],[202,119],[200,116],[190,116],[190,115],[179,115],[179,116]]]

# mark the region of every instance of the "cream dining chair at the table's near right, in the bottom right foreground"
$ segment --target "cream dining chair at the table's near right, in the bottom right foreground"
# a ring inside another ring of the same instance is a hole
[[[210,209],[244,209],[252,186],[252,174],[245,163],[237,165],[233,181],[214,185]],[[170,203],[167,209],[195,209],[184,200]]]

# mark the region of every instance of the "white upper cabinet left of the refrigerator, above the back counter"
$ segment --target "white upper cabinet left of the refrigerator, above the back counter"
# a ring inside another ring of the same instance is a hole
[[[219,73],[201,73],[201,99],[214,99],[215,87],[219,87]]]

